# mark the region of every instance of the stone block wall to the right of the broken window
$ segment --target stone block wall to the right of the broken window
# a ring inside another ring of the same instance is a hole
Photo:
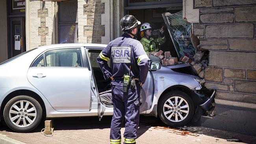
[[[209,50],[206,87],[215,102],[256,109],[256,1],[194,0],[193,33]]]

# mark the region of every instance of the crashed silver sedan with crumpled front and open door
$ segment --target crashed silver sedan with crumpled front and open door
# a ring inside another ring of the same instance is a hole
[[[0,120],[17,132],[43,117],[112,115],[110,79],[96,57],[104,44],[41,46],[0,64]],[[141,114],[183,126],[209,109],[214,90],[203,89],[192,66],[151,62],[141,93]]]

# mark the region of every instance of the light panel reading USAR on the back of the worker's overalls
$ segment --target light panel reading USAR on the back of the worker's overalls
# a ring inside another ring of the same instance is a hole
[[[131,63],[131,47],[111,47],[113,63]]]

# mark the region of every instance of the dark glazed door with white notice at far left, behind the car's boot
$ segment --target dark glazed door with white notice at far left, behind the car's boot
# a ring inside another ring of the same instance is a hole
[[[26,51],[25,17],[9,18],[8,59]]]

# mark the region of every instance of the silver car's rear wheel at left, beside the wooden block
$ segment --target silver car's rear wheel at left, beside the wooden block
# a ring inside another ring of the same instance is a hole
[[[30,96],[16,96],[4,107],[6,125],[17,132],[28,132],[35,129],[42,119],[42,107]]]

